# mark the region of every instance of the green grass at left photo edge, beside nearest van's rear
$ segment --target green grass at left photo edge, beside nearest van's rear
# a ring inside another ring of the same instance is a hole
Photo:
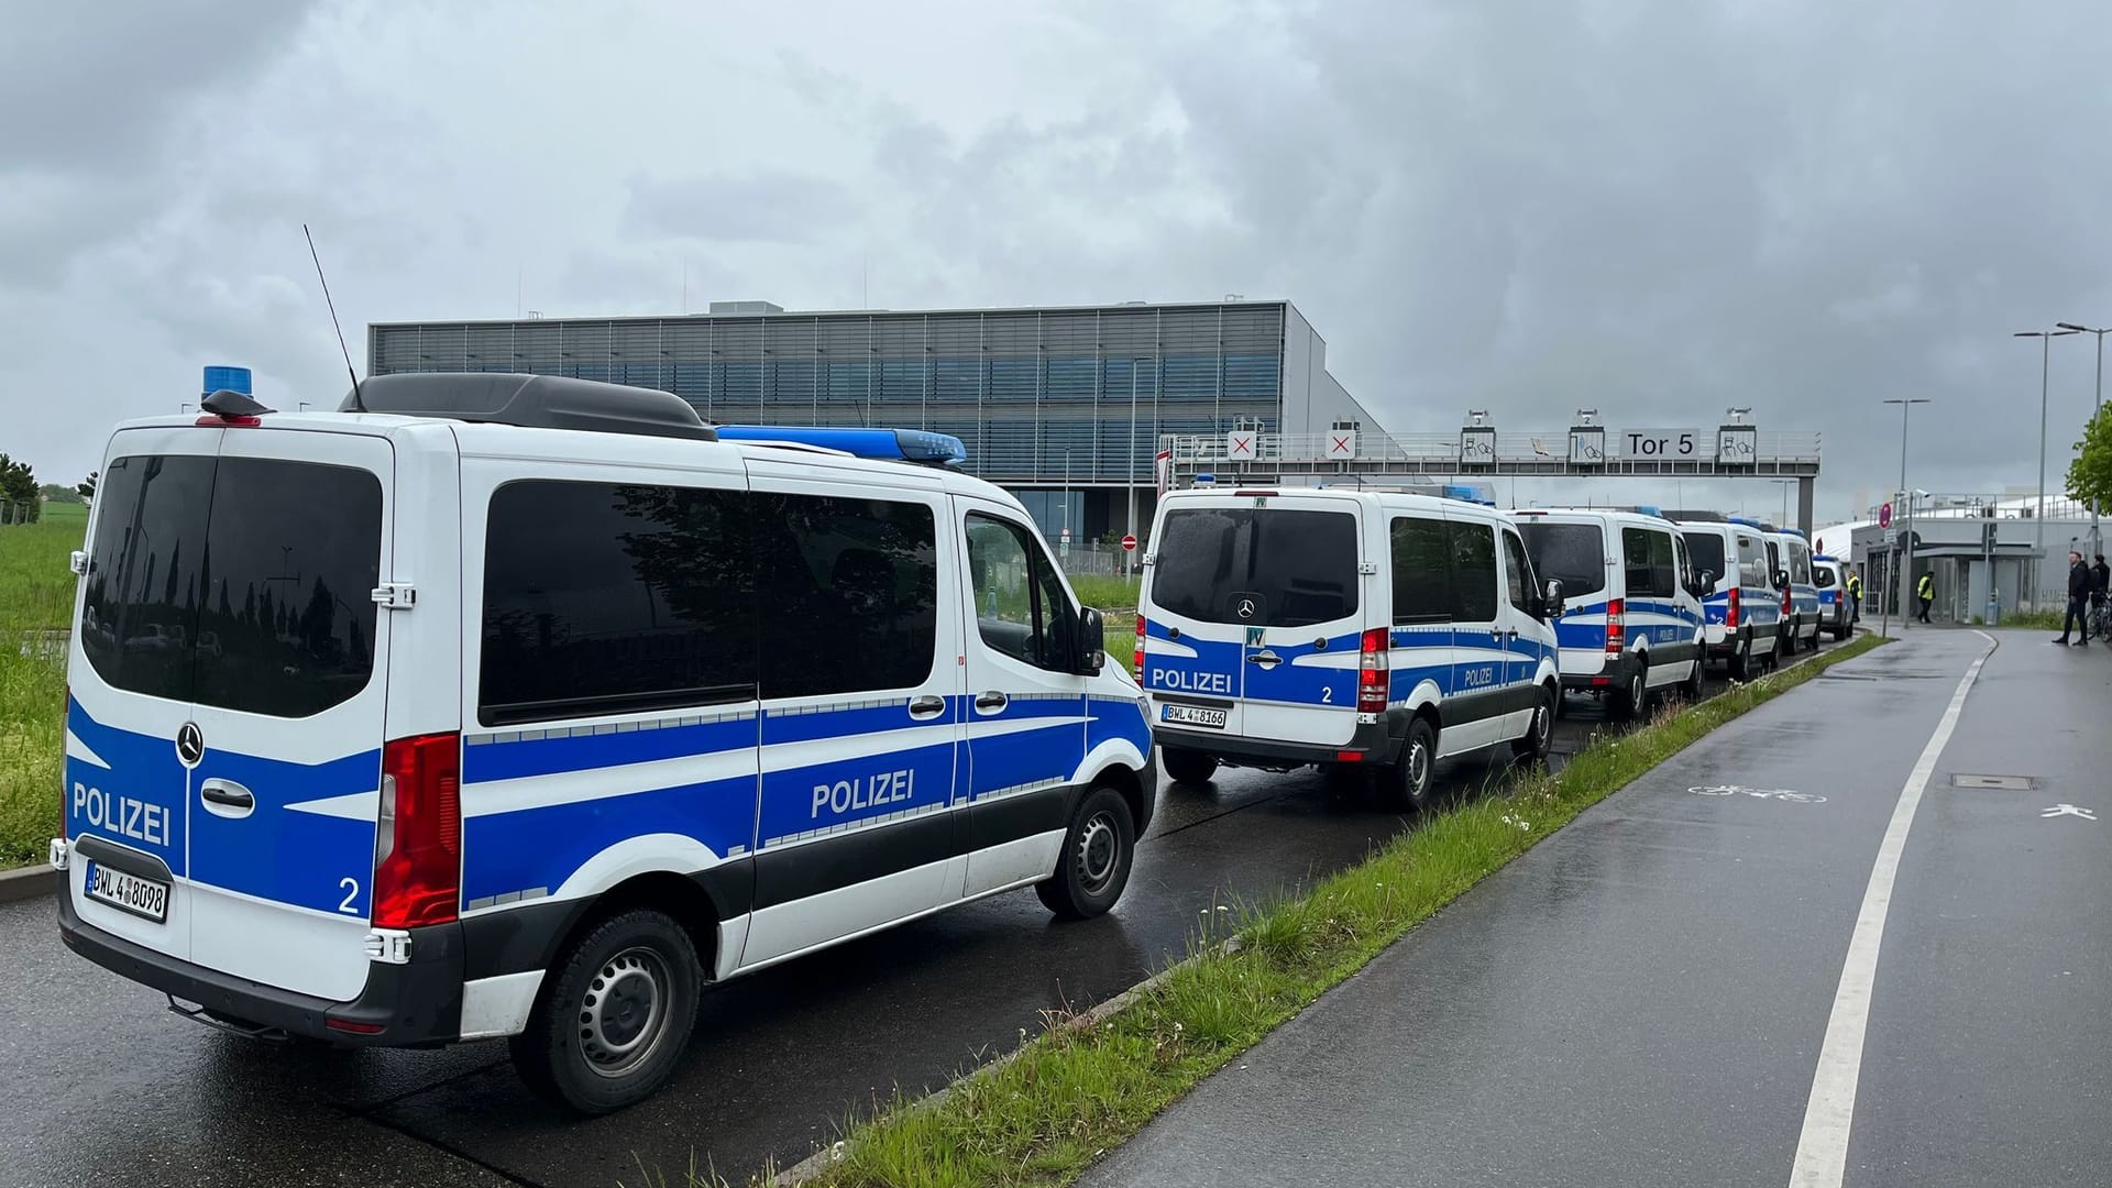
[[[65,556],[87,522],[87,507],[51,503],[36,524],[0,526],[0,869],[42,860],[59,831],[65,660],[23,645],[72,621]]]

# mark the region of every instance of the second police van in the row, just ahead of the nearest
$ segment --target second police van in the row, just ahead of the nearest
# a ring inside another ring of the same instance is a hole
[[[1546,755],[1559,605],[1476,503],[1174,490],[1145,556],[1136,672],[1174,780],[1316,763],[1421,808],[1436,759]]]

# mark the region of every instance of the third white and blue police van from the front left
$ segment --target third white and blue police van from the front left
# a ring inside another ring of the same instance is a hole
[[[1565,691],[1605,695],[1618,717],[1641,714],[1662,689],[1700,698],[1706,588],[1671,520],[1582,507],[1512,518],[1533,571],[1563,586],[1554,636]]]

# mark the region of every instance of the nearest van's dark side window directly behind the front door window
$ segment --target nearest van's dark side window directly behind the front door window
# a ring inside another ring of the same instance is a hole
[[[914,689],[938,651],[938,520],[923,503],[754,495],[765,698]]]

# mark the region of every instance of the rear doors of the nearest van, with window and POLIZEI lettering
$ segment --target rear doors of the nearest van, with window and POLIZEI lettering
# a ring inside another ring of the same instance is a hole
[[[118,435],[68,714],[70,784],[101,795],[68,816],[169,888],[156,913],[76,843],[89,924],[298,994],[365,985],[393,471],[382,438]]]

